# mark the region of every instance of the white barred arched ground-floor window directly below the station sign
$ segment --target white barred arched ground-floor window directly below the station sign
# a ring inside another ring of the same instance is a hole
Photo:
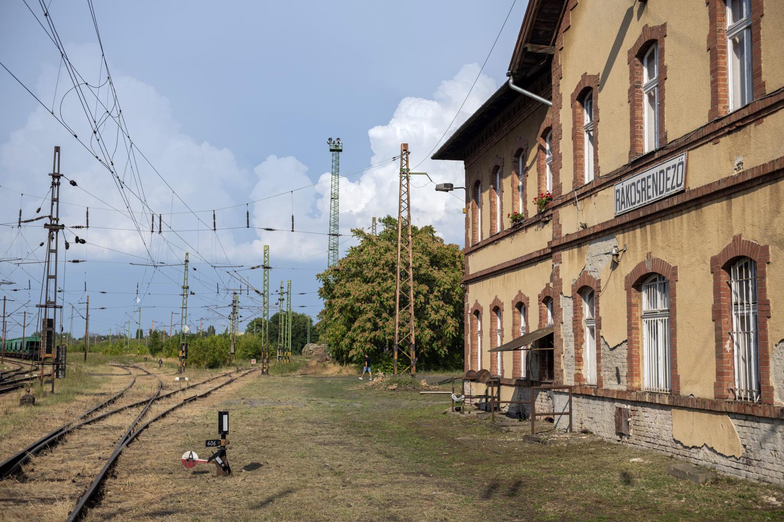
[[[655,274],[642,284],[643,387],[670,393],[670,283]]]

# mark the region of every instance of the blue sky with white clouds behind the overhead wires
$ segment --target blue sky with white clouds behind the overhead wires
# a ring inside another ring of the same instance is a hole
[[[452,129],[504,80],[525,3],[514,5]],[[38,2],[27,4],[45,23]],[[99,0],[93,5],[129,134],[198,218],[146,164],[138,165],[138,181],[149,207],[182,232],[165,232],[163,238],[156,228],[150,235],[145,214],[142,239],[127,215],[100,210],[123,208],[111,175],[47,111],[60,114],[62,103],[62,119],[82,138],[90,135],[89,121],[74,92],[67,91],[73,85],[59,65],[56,47],[24,2],[9,0],[0,5],[0,62],[48,109],[0,69],[0,222],[16,222],[20,205],[25,218],[35,215],[41,200],[31,196],[48,189],[52,149],[60,145],[63,172],[78,179],[80,187],[63,190],[64,222],[81,223],[83,207],[91,207],[91,229],[83,236],[88,244],[67,252],[87,262],[65,265],[65,301],[67,306],[84,301],[86,282],[91,306],[106,307],[91,314],[90,330],[105,333],[131,316],[136,320],[136,283],[141,284],[143,327],[151,319],[168,326],[169,311],[180,308],[176,294],[182,268],[129,262],[152,257],[175,264],[183,250],[198,263],[191,272],[191,290],[197,294],[189,301],[191,327],[199,317],[225,314],[230,302],[225,288],[234,286],[234,279],[226,269],[209,265],[258,265],[263,244],[270,245],[276,267],[270,286],[292,279],[295,310],[316,315],[318,296],[299,292],[318,289],[314,274],[325,266],[327,237],[243,229],[244,203],[268,198],[247,207],[253,226],[289,229],[293,208],[296,229],[326,232],[328,182],[269,196],[325,181],[330,136],[345,143],[341,171],[352,174],[341,180],[342,233],[369,227],[374,215],[394,213],[397,165],[389,160],[402,141],[409,143],[414,164],[425,160],[419,170],[438,181],[459,182],[459,163],[426,160],[426,153],[455,117],[512,2],[225,2],[217,7],[215,2]],[[49,9],[69,59],[97,85],[100,48],[87,2],[53,0]],[[106,99],[107,88],[92,92]],[[114,145],[116,133],[109,129],[116,131],[116,126],[111,125],[103,128],[103,139]],[[122,141],[119,148],[118,165],[127,160]],[[127,166],[124,170],[118,167],[118,175],[136,181]],[[448,241],[461,241],[463,203],[458,198],[434,193],[433,185],[415,189],[412,198],[416,223],[433,223]],[[131,204],[143,221],[141,203]],[[234,205],[239,207],[216,211],[218,228],[224,230],[204,230],[212,225],[212,209]],[[37,245],[45,237],[41,222],[23,229],[0,227],[0,259],[20,257],[27,263],[0,262],[0,279],[15,283],[0,286],[14,300],[9,310],[26,305],[28,312],[35,311],[42,274],[36,261],[43,250]],[[73,233],[65,236],[71,241]],[[343,250],[353,244],[348,236],[341,240]],[[240,273],[260,286],[260,271]],[[27,289],[28,279],[33,290],[11,291]],[[249,319],[255,303],[246,297],[241,304],[249,307],[243,320]],[[70,308],[65,317],[68,329]],[[12,337],[20,320],[11,322]],[[219,328],[225,323],[209,322]],[[74,331],[83,325],[77,314]]]

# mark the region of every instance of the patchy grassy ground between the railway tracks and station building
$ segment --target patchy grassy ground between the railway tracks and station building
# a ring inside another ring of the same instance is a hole
[[[253,373],[152,425],[88,520],[784,520],[781,488],[677,481],[662,455],[538,445],[443,415],[445,396],[302,369]],[[234,475],[186,470],[183,452],[209,456],[219,409]]]

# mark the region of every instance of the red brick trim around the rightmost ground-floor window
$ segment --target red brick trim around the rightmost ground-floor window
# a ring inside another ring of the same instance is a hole
[[[731,330],[731,296],[729,289],[729,268],[739,257],[749,257],[757,263],[757,345],[760,366],[760,402],[773,404],[773,383],[771,382],[771,347],[768,339],[768,319],[771,318],[771,301],[768,299],[768,264],[771,262],[770,247],[760,245],[742,234],[732,238],[730,244],[717,255],[710,258],[710,272],[713,273],[712,319],[716,337],[716,381],[713,396],[717,399],[732,400],[729,388],[735,386],[735,362],[732,343],[728,332]]]

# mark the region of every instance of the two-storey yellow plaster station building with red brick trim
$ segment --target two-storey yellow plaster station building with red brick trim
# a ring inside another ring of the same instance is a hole
[[[577,429],[784,484],[782,8],[530,0],[510,72],[552,106],[505,84],[434,155],[466,172],[466,370],[504,400],[574,385]]]

